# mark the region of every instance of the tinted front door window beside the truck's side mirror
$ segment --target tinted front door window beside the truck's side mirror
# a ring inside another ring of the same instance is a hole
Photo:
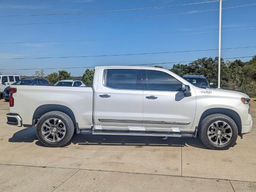
[[[147,70],[148,90],[154,91],[179,91],[181,82],[173,76],[154,70]]]

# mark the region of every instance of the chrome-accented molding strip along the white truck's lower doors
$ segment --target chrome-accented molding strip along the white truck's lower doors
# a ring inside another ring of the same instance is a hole
[[[190,122],[183,121],[141,121],[141,120],[124,120],[124,119],[98,119],[100,122],[113,123],[145,123],[145,124],[171,124],[171,125],[188,125]]]

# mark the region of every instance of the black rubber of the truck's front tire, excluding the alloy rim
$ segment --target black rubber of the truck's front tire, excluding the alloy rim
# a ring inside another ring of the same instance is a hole
[[[223,145],[216,145],[213,144],[209,138],[208,138],[208,128],[210,127],[210,125],[213,122],[216,121],[223,121],[226,122],[230,125],[231,129],[232,129],[232,138],[229,140],[228,143],[223,144]],[[199,134],[202,142],[211,149],[216,149],[216,150],[221,150],[221,149],[228,149],[232,146],[234,146],[236,139],[238,137],[238,128],[236,126],[236,123],[234,122],[234,120],[232,120],[230,117],[223,115],[223,114],[215,114],[214,118],[211,118],[211,115],[206,117],[201,124],[201,128],[200,128],[200,134]],[[205,143],[206,142],[206,143]]]

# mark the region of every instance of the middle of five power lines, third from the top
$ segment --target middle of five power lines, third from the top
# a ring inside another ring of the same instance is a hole
[[[222,30],[222,32],[237,31],[237,30],[248,30],[248,29],[256,29],[256,27]],[[165,35],[163,34],[163,35],[151,35],[151,36],[133,36],[133,37],[106,38],[106,39],[78,39],[78,40],[57,40],[57,41],[0,42],[0,44],[56,43],[56,42],[83,42],[83,41],[103,41],[103,40],[124,40],[124,39],[134,39],[134,38],[154,38],[154,37],[168,37],[168,36],[177,36],[177,35],[205,34],[205,33],[213,33],[213,32],[219,32],[219,31],[206,31],[206,32],[194,32],[194,33],[181,33],[181,34],[165,34]]]

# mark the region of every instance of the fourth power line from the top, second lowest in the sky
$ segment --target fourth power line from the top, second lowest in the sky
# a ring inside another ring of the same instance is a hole
[[[256,46],[232,47],[223,48],[222,50],[255,48]],[[150,55],[150,54],[167,54],[167,53],[182,53],[182,52],[199,52],[213,51],[218,49],[201,49],[201,50],[184,50],[184,51],[168,51],[168,52],[150,52],[150,53],[134,53],[134,54],[111,54],[111,55],[87,55],[87,56],[58,56],[58,57],[28,57],[28,58],[0,58],[0,60],[17,60],[17,59],[53,59],[53,58],[83,58],[83,57],[109,57],[109,56],[133,56],[133,55]]]

